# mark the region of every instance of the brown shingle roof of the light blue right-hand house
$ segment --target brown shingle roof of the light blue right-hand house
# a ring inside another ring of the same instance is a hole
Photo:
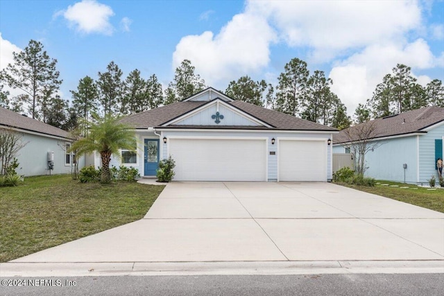
[[[373,124],[373,128],[375,128],[374,138],[380,138],[400,134],[411,134],[414,132],[424,132],[425,128],[441,121],[444,121],[444,108],[425,107],[409,112],[403,112],[394,116],[375,119],[373,121],[361,123],[360,125]],[[341,130],[339,134],[334,134],[333,136],[333,143],[344,143],[347,141],[348,138],[345,136],[345,130]]]

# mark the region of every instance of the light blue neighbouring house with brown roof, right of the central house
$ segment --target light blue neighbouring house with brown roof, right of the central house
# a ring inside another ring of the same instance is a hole
[[[366,175],[379,180],[427,183],[438,177],[436,159],[443,158],[444,108],[425,107],[368,121],[381,146],[366,155]],[[352,127],[354,128],[354,127]],[[333,137],[333,153],[350,153],[344,130]],[[407,168],[404,168],[407,164]]]

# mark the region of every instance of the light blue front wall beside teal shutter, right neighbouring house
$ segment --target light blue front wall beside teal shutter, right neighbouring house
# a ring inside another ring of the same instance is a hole
[[[435,159],[435,139],[443,139],[444,123],[441,126],[429,130],[427,134],[419,137],[419,182],[427,183],[427,180],[434,175],[438,177]]]

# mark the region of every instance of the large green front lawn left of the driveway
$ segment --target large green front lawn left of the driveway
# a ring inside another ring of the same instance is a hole
[[[0,188],[0,262],[143,218],[164,186],[26,177]]]

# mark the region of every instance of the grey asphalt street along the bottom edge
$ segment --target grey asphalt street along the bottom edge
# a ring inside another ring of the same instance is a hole
[[[444,274],[1,278],[0,295],[444,295]],[[5,281],[6,280],[6,281]],[[15,281],[15,282],[14,282]],[[23,286],[26,283],[26,286]],[[33,284],[35,286],[29,286]],[[36,286],[39,285],[39,286]],[[69,285],[69,286],[67,286]]]

